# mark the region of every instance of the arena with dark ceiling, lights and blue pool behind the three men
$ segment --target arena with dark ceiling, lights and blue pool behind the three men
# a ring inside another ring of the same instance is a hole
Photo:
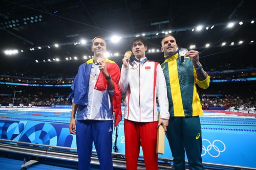
[[[121,68],[137,36],[148,41],[146,57],[163,63],[166,34],[179,47],[199,51],[210,76],[209,88],[198,88],[204,168],[256,169],[254,3],[0,1],[0,169],[77,169],[67,98],[79,65],[93,58],[92,39],[104,37],[106,57]],[[126,167],[124,141],[122,119],[113,132],[115,169]],[[138,169],[145,169],[140,155]],[[165,138],[159,169],[172,164]],[[99,169],[94,147],[91,169]]]

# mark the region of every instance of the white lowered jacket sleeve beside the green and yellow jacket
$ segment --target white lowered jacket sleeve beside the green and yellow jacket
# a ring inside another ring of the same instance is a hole
[[[167,98],[167,88],[166,88],[166,82],[163,75],[163,70],[158,64],[157,66],[157,97],[158,97],[158,103],[159,103],[159,111],[161,118],[169,119],[169,102]]]

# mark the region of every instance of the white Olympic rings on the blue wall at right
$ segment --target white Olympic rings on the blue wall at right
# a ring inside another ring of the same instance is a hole
[[[206,153],[208,153],[211,157],[214,157],[214,158],[217,158],[217,157],[219,157],[220,156],[220,154],[222,153],[222,152],[224,152],[225,150],[226,150],[226,145],[223,143],[223,141],[221,141],[221,140],[214,140],[212,143],[209,141],[209,140],[207,140],[207,139],[202,139],[202,141],[207,141],[209,144],[208,144],[208,146],[207,147],[205,147],[204,145],[203,145],[203,151],[204,151],[204,153],[201,155],[201,156],[204,156]],[[219,143],[218,144],[218,146],[221,146],[222,145],[222,150],[220,150],[217,146],[216,146],[216,143]],[[212,152],[210,152],[211,151],[211,149],[214,149]],[[216,154],[214,154],[214,153],[218,153],[217,155]]]

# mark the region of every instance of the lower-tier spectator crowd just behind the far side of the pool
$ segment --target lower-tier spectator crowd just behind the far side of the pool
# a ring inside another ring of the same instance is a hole
[[[0,96],[0,104],[2,106],[9,106],[12,104],[12,96]],[[202,107],[208,109],[209,107],[225,107],[238,110],[250,110],[255,108],[256,100],[253,96],[250,98],[242,98],[237,94],[226,94],[223,96],[207,96],[207,94],[201,95]],[[15,106],[52,106],[52,105],[70,105],[68,100],[68,94],[58,95],[58,93],[46,95],[42,92],[28,95],[18,95],[14,100]],[[124,105],[124,98],[122,98],[122,104]]]

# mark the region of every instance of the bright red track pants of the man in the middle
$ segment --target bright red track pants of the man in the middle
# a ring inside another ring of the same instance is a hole
[[[146,170],[158,169],[157,148],[158,122],[133,122],[124,119],[125,159],[127,170],[137,170],[140,145]]]

